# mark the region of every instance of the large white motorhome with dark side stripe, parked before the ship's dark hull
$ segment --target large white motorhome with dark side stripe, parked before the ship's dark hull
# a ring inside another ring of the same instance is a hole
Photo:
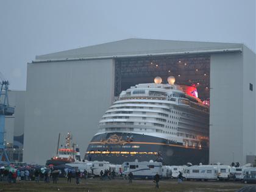
[[[124,162],[124,175],[132,172],[134,178],[152,179],[155,174],[162,176],[162,163],[160,162]]]

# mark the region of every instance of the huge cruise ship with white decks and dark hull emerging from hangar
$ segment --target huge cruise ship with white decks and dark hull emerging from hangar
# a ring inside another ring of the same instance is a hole
[[[209,101],[195,86],[155,77],[122,91],[99,121],[85,159],[121,164],[154,160],[164,165],[208,164]]]

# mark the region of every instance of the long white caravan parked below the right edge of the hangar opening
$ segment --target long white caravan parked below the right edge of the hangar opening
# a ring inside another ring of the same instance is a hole
[[[183,174],[187,180],[218,180],[216,166],[188,166]]]

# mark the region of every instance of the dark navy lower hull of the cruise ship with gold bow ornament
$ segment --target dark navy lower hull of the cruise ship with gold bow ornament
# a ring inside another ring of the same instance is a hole
[[[95,135],[86,160],[107,161],[114,164],[134,160],[163,162],[163,165],[208,164],[208,148],[183,146],[164,138],[137,133],[111,132]]]

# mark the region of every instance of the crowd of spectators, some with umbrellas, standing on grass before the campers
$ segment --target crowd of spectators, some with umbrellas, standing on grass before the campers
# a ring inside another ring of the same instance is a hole
[[[71,183],[72,178],[74,177],[76,183],[80,183],[80,179],[87,179],[89,174],[86,170],[80,171],[79,169],[71,170],[71,169],[54,169],[53,166],[1,166],[0,167],[0,182],[26,182],[26,181],[34,181],[34,182],[44,182],[44,183],[57,183],[59,177],[65,177],[68,183]],[[118,174],[118,176],[123,177],[128,180],[128,183],[132,183],[133,174],[129,172],[127,176],[123,176],[122,173]],[[112,180],[115,179],[116,172],[111,169],[101,170],[100,179],[101,180]],[[155,187],[159,188],[160,176],[156,174],[153,178],[155,182]],[[182,172],[180,172],[178,176],[178,182],[182,182],[183,176]]]

